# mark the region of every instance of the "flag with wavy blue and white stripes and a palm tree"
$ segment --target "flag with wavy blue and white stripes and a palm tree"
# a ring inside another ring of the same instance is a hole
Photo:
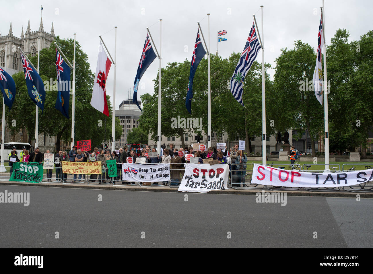
[[[254,63],[258,52],[260,50],[260,43],[255,30],[255,25],[251,27],[249,37],[247,38],[244,51],[242,51],[241,57],[238,60],[236,69],[234,70],[230,89],[233,97],[240,103],[244,105],[242,101],[242,92],[244,90],[244,80],[247,72],[249,71],[251,65]]]

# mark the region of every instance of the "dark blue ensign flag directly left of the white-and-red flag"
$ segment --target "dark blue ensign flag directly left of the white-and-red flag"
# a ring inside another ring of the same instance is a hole
[[[56,48],[56,70],[58,91],[56,105],[54,107],[61,111],[62,115],[69,119],[69,100],[70,100],[70,67],[63,60],[61,54]]]

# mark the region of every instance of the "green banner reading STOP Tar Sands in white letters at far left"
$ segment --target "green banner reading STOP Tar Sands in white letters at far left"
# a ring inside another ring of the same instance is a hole
[[[43,163],[13,163],[9,181],[40,183],[43,180]]]

